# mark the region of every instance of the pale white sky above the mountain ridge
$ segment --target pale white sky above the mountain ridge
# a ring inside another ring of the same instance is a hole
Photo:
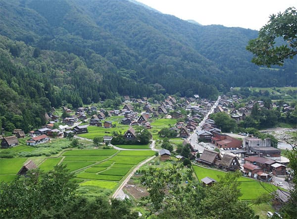
[[[297,0],[137,0],[164,14],[202,25],[260,30],[271,14],[297,8]]]

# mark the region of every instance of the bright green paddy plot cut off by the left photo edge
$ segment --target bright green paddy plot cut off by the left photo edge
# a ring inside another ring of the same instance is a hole
[[[26,160],[27,158],[1,158],[0,175],[17,174]]]

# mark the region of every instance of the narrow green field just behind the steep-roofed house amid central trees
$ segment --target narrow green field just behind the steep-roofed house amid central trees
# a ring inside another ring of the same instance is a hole
[[[93,139],[96,136],[104,136],[104,135],[111,136],[113,131],[116,131],[118,133],[121,132],[124,134],[128,129],[129,129],[128,125],[122,125],[122,124],[116,125],[115,128],[110,128],[110,129],[97,127],[97,126],[88,126],[89,132],[84,134],[79,134],[78,136]]]

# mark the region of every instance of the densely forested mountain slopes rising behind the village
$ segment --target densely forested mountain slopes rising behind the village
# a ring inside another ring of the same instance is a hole
[[[256,31],[201,26],[128,0],[0,0],[0,35],[5,129],[39,126],[51,106],[115,95],[296,86],[296,59],[273,69],[250,62]]]

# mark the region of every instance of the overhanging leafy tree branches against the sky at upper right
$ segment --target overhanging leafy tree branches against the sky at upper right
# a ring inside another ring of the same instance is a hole
[[[283,65],[284,60],[297,54],[297,13],[295,7],[283,13],[272,14],[268,23],[263,26],[258,38],[250,40],[247,50],[254,54],[252,62],[257,65]],[[277,38],[283,38],[279,45]]]

